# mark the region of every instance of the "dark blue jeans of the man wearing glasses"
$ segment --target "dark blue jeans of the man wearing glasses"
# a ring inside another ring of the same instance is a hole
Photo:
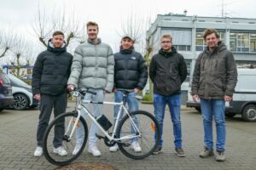
[[[172,117],[174,144],[176,148],[180,148],[182,147],[182,132],[181,132],[181,122],[180,122],[180,94],[172,95],[172,96],[163,96],[160,94],[154,94],[154,116],[160,125],[159,146],[161,147],[163,144],[162,134],[163,134],[166,104],[169,106],[169,110]]]

